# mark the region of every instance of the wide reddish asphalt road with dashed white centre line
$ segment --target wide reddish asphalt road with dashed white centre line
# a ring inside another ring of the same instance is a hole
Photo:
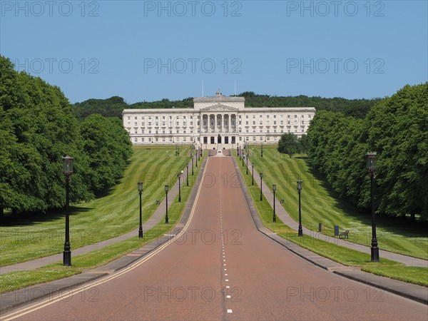
[[[20,320],[427,320],[428,306],[315,267],[258,233],[233,161],[211,157],[183,235]]]

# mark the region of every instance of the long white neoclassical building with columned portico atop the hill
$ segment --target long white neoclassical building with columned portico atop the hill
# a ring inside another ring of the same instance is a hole
[[[302,136],[315,115],[313,107],[245,107],[245,98],[193,98],[193,108],[125,109],[123,126],[134,146],[192,144],[236,148],[244,143],[276,144],[282,133]]]

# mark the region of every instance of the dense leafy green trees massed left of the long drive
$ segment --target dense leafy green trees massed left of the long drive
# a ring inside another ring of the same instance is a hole
[[[121,178],[132,154],[117,118],[99,114],[78,122],[57,86],[0,56],[0,215],[62,208],[62,158],[73,157],[71,202],[91,200]]]

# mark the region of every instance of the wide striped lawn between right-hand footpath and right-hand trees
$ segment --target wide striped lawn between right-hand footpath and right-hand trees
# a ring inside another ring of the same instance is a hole
[[[330,186],[310,167],[304,156],[280,154],[276,146],[250,146],[253,156],[250,162],[255,169],[263,171],[263,180],[268,186],[277,185],[277,199],[285,199],[285,210],[298,220],[298,194],[296,180],[303,180],[302,225],[318,230],[318,223],[325,226],[326,235],[334,235],[334,225],[340,230],[350,230],[351,242],[369,245],[372,239],[372,223],[369,213],[362,213],[354,205],[340,200]],[[257,180],[255,180],[257,181]],[[367,186],[369,188],[369,186]],[[279,203],[279,202],[278,202]],[[377,216],[377,240],[379,248],[417,258],[428,259],[428,230],[409,222]]]

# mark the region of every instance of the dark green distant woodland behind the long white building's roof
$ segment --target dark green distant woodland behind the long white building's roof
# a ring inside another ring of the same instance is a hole
[[[245,97],[245,106],[248,107],[315,107],[317,111],[340,111],[348,116],[364,118],[370,108],[380,101],[375,99],[345,99],[345,98],[321,98],[307,96],[268,96],[258,95],[250,91],[240,93]],[[124,108],[193,108],[193,98],[185,98],[182,101],[143,101],[141,103],[128,104],[118,96],[108,99],[88,99],[82,103],[75,103],[74,113],[78,119],[83,119],[92,113],[100,113],[106,117],[116,116],[122,118]]]

